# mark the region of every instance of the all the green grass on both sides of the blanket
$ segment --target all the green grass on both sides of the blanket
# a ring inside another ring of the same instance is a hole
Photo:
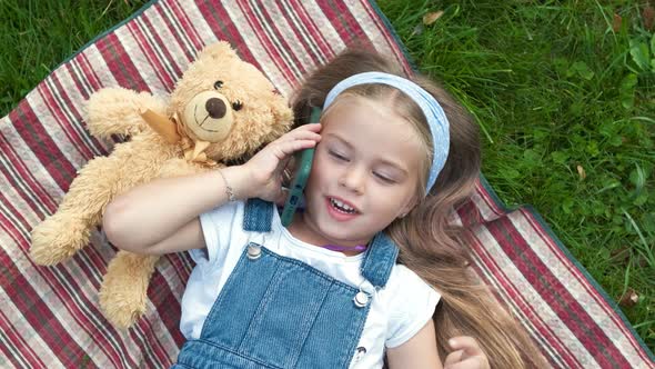
[[[0,0],[0,116],[144,2]],[[643,2],[612,3],[379,4],[419,68],[476,118],[501,199],[533,205],[609,297],[636,291],[622,309],[655,350],[655,39]]]

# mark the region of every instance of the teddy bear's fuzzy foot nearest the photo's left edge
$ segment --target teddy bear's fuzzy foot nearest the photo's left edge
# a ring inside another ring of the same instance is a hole
[[[32,229],[30,256],[38,265],[52,266],[87,246],[90,236],[85,222],[56,215]]]

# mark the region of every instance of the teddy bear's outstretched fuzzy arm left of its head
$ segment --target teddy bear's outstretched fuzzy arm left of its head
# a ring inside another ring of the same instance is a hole
[[[140,111],[151,109],[165,114],[165,104],[148,92],[124,88],[105,88],[91,94],[87,102],[87,127],[98,138],[111,134],[134,136],[148,124]]]

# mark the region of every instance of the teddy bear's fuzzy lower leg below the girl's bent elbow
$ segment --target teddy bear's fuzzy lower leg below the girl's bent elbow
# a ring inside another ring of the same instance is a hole
[[[100,288],[100,307],[114,327],[128,329],[145,313],[148,285],[158,259],[120,251],[110,262]]]

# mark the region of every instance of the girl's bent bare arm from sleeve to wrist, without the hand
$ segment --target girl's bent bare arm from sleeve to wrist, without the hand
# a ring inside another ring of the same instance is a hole
[[[249,196],[248,169],[220,169],[239,198]],[[228,202],[218,170],[158,179],[117,197],[104,211],[102,227],[115,247],[135,253],[162,255],[204,247],[199,215]]]

